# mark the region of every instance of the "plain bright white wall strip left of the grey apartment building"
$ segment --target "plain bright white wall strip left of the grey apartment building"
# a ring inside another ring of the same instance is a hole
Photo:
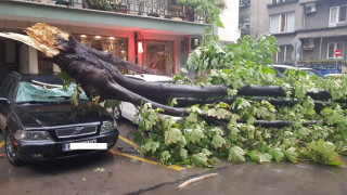
[[[222,42],[236,42],[239,30],[239,0],[224,0],[227,9],[220,15],[224,28],[218,28],[219,39]]]

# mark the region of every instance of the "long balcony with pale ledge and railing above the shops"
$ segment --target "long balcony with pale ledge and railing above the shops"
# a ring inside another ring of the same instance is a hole
[[[183,20],[187,8],[175,17],[170,1],[131,1],[126,0],[116,4],[113,10],[89,8],[86,0],[72,0],[72,3],[55,4],[59,0],[0,0],[0,26],[13,28],[14,25],[27,26],[30,23],[49,23],[70,28],[114,29],[118,31],[141,31],[160,35],[203,35],[207,24]],[[64,0],[69,2],[69,0]],[[100,1],[100,0],[93,0]],[[154,2],[165,2],[158,6]],[[134,2],[134,4],[133,4]],[[152,3],[153,2],[153,3]],[[143,5],[143,6],[142,6]],[[153,5],[153,6],[152,6]],[[119,8],[119,9],[118,9]],[[167,9],[163,9],[167,8]],[[99,9],[99,10],[98,10]],[[142,10],[141,10],[142,9]],[[194,14],[194,20],[198,20]]]

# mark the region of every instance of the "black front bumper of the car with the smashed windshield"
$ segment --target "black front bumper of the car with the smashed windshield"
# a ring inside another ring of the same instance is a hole
[[[118,140],[119,132],[112,131],[108,133],[80,138],[67,141],[47,141],[47,142],[28,142],[18,141],[17,156],[20,159],[25,161],[37,161],[37,160],[51,160],[51,159],[63,159],[72,158],[77,156],[83,156],[100,152],[100,150],[78,150],[78,151],[66,151],[63,152],[63,145],[67,143],[86,142],[90,140],[97,140],[97,143],[107,143],[107,150],[113,147]]]

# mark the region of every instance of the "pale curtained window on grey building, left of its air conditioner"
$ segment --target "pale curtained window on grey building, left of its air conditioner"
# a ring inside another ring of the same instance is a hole
[[[295,29],[295,13],[288,12],[270,16],[270,32],[291,32]]]

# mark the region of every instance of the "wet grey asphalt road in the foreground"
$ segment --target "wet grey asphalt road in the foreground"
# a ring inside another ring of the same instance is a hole
[[[130,122],[119,122],[119,129],[121,135],[131,140],[134,127]],[[132,146],[120,140],[113,150],[137,155]],[[1,147],[0,154],[3,153]],[[347,162],[347,158],[343,160]],[[95,171],[98,168],[99,171]],[[207,173],[218,173],[218,177],[177,188],[182,182]],[[347,167],[291,162],[236,165],[222,161],[211,170],[190,168],[178,171],[112,153],[22,167],[13,167],[1,158],[0,194],[346,195]]]

